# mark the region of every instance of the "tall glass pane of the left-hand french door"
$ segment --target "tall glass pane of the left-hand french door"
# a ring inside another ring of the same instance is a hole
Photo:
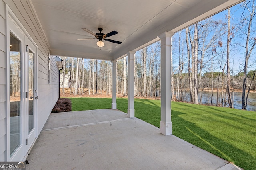
[[[21,142],[21,42],[10,33],[10,156]]]

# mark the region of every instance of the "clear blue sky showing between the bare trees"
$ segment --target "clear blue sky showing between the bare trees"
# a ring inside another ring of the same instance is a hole
[[[243,8],[241,8],[241,3],[237,4],[236,6],[233,6],[230,9],[230,14],[231,14],[230,25],[235,26],[234,30],[236,30],[236,31],[234,31],[235,37],[232,39],[232,41],[230,43],[230,70],[231,70],[232,75],[238,74],[241,71],[241,69],[243,69],[243,65],[244,65],[244,61],[245,61],[245,48],[241,47],[241,45],[239,45],[239,43],[245,46],[246,41],[244,41],[244,39],[241,38],[242,35],[239,35],[241,33],[241,31],[238,30],[238,23],[239,23],[239,19],[242,16],[242,12],[243,12]],[[227,19],[226,19],[227,14],[228,14],[228,10],[224,10],[224,11],[212,16],[212,18],[214,20],[222,20],[223,22],[227,22]],[[246,29],[246,26],[242,27],[242,29]],[[253,23],[252,23],[252,30],[256,30],[256,17],[254,18]],[[183,32],[184,32],[184,30],[183,30]],[[183,39],[185,39],[185,37],[184,37],[185,33],[183,33],[182,35],[183,35]],[[226,36],[227,35],[225,34],[224,37],[222,37],[223,44],[227,41]],[[243,36],[245,37],[245,35],[243,35]],[[255,31],[251,32],[251,36],[256,37]],[[176,38],[176,43],[174,42],[173,46],[174,46],[174,48],[178,49],[178,44],[177,44],[178,33],[176,33],[176,35],[174,35],[174,39],[175,38]],[[183,50],[186,51],[186,49],[183,49]],[[184,53],[186,53],[186,52],[184,52]],[[198,52],[198,53],[200,53],[200,52]],[[174,60],[175,60],[175,56],[178,55],[177,51],[176,52],[174,51],[173,54],[174,54]],[[186,56],[186,55],[184,55],[184,56]],[[223,57],[226,60],[226,52]],[[199,58],[200,58],[200,56],[198,56],[198,59]],[[206,59],[204,61],[206,61]],[[215,61],[215,63],[216,63],[216,65],[214,67],[215,68],[214,71],[219,71],[220,66],[218,65],[218,61]],[[176,61],[174,61],[174,70],[177,68],[177,65],[178,65],[178,57],[176,57]],[[255,69],[256,69],[256,48],[254,48],[253,53],[250,56],[249,63],[248,63],[248,71],[255,70]],[[209,72],[209,69],[205,68],[204,72],[207,72],[207,71]]]

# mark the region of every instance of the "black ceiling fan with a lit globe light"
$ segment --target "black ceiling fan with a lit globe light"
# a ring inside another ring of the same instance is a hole
[[[97,45],[99,47],[103,47],[104,46],[104,42],[102,40],[109,41],[111,43],[117,43],[117,44],[121,44],[122,43],[120,41],[115,41],[115,40],[112,40],[112,39],[106,39],[107,37],[110,37],[112,35],[118,34],[118,32],[116,32],[116,31],[112,31],[110,33],[104,34],[104,33],[101,33],[101,31],[103,30],[102,28],[98,28],[98,30],[100,31],[99,33],[93,33],[92,31],[90,31],[89,29],[86,29],[86,28],[82,28],[82,29],[84,31],[92,34],[95,38],[81,38],[81,39],[77,39],[77,40],[98,39],[99,41],[97,42]]]

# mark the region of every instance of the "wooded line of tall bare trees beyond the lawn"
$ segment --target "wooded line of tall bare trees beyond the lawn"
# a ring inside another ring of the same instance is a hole
[[[209,104],[232,108],[234,89],[239,89],[242,109],[246,109],[250,90],[256,90],[255,8],[255,0],[247,0],[218,14],[225,18],[212,16],[174,34],[172,100],[201,104],[207,89],[211,92]],[[62,72],[71,75],[72,93],[112,93],[111,61],[62,59]],[[127,57],[116,63],[116,90],[123,96],[127,95],[127,63]],[[135,53],[134,83],[135,96],[160,99],[159,41]]]

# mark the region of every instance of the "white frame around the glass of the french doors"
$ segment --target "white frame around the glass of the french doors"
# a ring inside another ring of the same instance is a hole
[[[22,63],[22,71],[21,74],[21,145],[15,150],[15,152],[10,157],[10,32],[14,34],[21,41],[21,58],[23,60]],[[19,35],[20,34],[20,35]],[[27,124],[28,124],[28,98],[26,98],[26,92],[28,92],[28,69],[24,69],[27,67],[28,59],[26,59],[26,39],[28,39],[30,43],[34,45],[34,49],[31,49],[34,53],[34,90],[38,89],[38,47],[36,43],[32,40],[26,29],[23,27],[22,23],[18,20],[15,14],[10,10],[9,6],[6,4],[6,92],[7,92],[7,127],[6,127],[6,160],[7,161],[23,161],[29,148],[32,146],[36,137],[38,137],[38,121],[37,121],[37,100],[34,102],[34,129],[33,133],[28,135],[27,132]],[[25,77],[25,78],[24,78]],[[32,137],[32,140],[28,140],[29,147],[26,147],[26,138],[29,139]]]

